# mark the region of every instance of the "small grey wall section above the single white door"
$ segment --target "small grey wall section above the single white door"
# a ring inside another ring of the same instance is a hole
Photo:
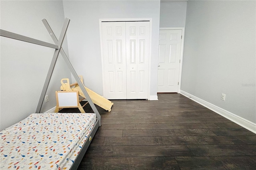
[[[185,27],[187,2],[161,1],[160,28]]]

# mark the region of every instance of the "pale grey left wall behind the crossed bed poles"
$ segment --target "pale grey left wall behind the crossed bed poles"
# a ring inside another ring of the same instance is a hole
[[[54,43],[42,19],[45,18],[59,37],[64,23],[62,1],[0,1],[2,30]],[[55,49],[1,37],[1,130],[17,123],[36,111]],[[64,43],[67,52],[67,43]],[[61,56],[46,95],[42,112],[56,106],[55,91],[60,90],[60,79],[70,78]]]

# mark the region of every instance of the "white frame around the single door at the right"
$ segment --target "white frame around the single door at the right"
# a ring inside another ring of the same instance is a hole
[[[161,27],[159,30],[182,30],[182,39],[181,39],[181,46],[180,46],[180,70],[179,70],[179,84],[178,84],[178,93],[180,93],[181,87],[181,76],[182,76],[182,63],[183,63],[183,51],[184,51],[184,39],[185,39],[185,28],[184,27]],[[159,55],[158,55],[159,59]],[[158,60],[159,61],[159,60]]]

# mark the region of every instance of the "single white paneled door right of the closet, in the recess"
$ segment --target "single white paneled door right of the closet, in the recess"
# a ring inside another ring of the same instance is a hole
[[[158,92],[178,92],[182,30],[160,30]]]

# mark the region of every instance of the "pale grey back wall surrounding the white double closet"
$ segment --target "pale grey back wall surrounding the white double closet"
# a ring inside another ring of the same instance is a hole
[[[150,95],[157,93],[157,62],[160,0],[148,1],[63,1],[64,13],[70,18],[68,47],[70,61],[83,75],[84,85],[103,95],[99,19],[152,18]]]

